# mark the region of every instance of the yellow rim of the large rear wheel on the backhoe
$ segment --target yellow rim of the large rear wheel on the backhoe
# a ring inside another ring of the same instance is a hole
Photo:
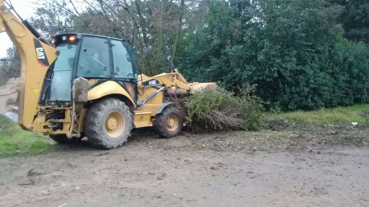
[[[111,138],[120,137],[125,129],[125,117],[120,111],[112,111],[105,119],[105,131]]]

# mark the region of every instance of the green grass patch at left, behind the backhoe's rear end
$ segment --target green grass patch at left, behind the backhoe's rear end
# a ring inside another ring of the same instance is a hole
[[[17,123],[0,115],[0,157],[37,154],[51,148],[49,138],[42,134],[24,131]]]

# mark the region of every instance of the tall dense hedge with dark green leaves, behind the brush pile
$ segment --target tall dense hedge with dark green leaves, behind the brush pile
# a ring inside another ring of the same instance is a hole
[[[342,7],[323,0],[213,3],[176,59],[190,81],[257,85],[273,109],[369,102],[369,48],[343,38]]]

